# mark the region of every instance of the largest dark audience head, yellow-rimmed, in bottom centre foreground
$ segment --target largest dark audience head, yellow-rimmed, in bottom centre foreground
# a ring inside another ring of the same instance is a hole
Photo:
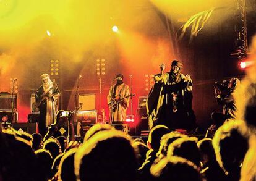
[[[132,139],[124,132],[105,130],[96,133],[75,153],[77,179],[135,180],[136,151]]]

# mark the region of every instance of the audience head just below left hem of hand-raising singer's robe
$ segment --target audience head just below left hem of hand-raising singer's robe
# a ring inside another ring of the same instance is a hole
[[[161,137],[169,132],[169,128],[165,125],[156,125],[153,127],[148,134],[148,148],[153,149],[154,151],[158,151]]]

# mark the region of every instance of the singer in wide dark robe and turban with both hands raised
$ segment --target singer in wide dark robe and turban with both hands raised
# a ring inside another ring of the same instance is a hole
[[[170,72],[164,73],[165,65],[160,65],[161,73],[154,76],[155,85],[150,90],[146,107],[149,127],[166,125],[170,130],[190,132],[196,127],[192,110],[192,79],[181,74],[183,64],[174,60]]]

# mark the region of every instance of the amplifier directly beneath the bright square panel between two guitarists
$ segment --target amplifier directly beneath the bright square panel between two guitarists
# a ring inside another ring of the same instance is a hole
[[[77,111],[77,122],[83,125],[92,125],[98,122],[98,110]]]

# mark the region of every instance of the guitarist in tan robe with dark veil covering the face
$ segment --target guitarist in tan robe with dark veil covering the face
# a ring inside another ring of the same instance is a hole
[[[116,75],[116,84],[112,85],[108,96],[109,106],[109,120],[126,121],[126,111],[130,102],[130,88],[129,85],[123,82],[124,76],[122,74]]]

